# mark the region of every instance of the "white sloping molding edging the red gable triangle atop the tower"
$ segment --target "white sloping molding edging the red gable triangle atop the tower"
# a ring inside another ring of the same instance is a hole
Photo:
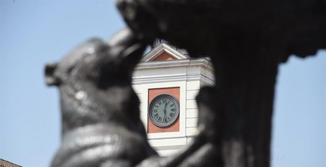
[[[160,43],[158,46],[153,48],[150,52],[142,57],[140,61],[148,62],[155,59],[157,56],[161,55],[163,52],[175,57],[176,59],[186,59],[189,58],[178,52],[177,50],[173,49],[172,47],[168,46],[165,43]]]

